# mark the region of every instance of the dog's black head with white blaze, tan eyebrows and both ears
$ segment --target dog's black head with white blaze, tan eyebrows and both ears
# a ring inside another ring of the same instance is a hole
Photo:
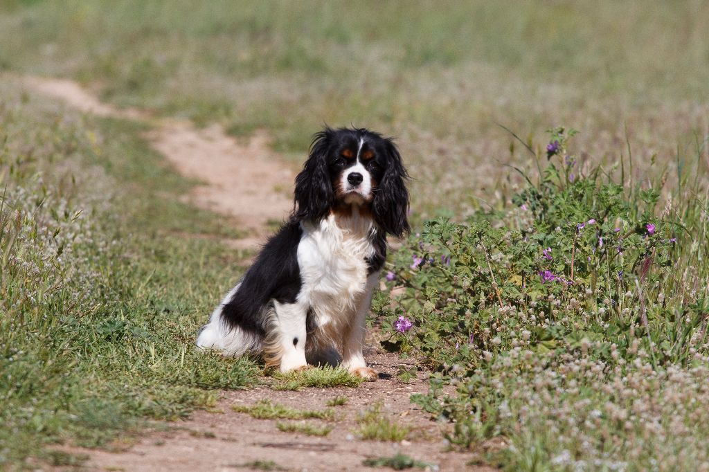
[[[364,128],[325,128],[296,177],[294,215],[319,221],[343,206],[365,206],[382,230],[408,232],[406,169],[391,138]]]

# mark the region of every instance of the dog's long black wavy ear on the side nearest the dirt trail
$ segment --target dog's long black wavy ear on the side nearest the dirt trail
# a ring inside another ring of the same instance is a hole
[[[293,215],[298,220],[319,221],[333,206],[335,194],[328,172],[328,149],[334,131],[325,128],[313,135],[308,160],[296,176]]]

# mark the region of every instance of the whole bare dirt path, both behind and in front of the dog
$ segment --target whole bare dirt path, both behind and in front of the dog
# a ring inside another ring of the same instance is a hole
[[[291,208],[294,169],[269,150],[265,133],[256,133],[242,144],[218,125],[199,129],[186,121],[159,120],[146,111],[101,103],[67,80],[28,78],[25,83],[32,91],[62,99],[86,113],[150,123],[152,130],[146,137],[152,147],[179,172],[203,182],[189,196],[191,201],[237,218],[250,231],[250,236],[238,242],[242,247],[255,248],[266,235],[269,220],[281,220]],[[359,388],[279,391],[264,386],[225,391],[217,408],[140,434],[125,451],[67,450],[89,454],[86,466],[91,469],[111,471],[262,470],[245,466],[254,461],[273,461],[279,467],[273,470],[357,471],[370,470],[362,465],[365,459],[397,452],[435,464],[432,469],[441,471],[474,468],[467,465],[471,454],[447,451],[441,426],[410,402],[411,393],[428,390],[425,374],[418,372],[411,383],[402,383],[396,374],[403,361],[396,354],[382,352],[374,339],[368,339],[368,346],[365,356],[380,378]],[[411,361],[408,364],[406,367],[413,367]],[[331,423],[333,431],[326,437],[281,432],[277,420],[257,420],[231,408],[267,398],[294,408],[321,410],[337,395],[349,400],[335,407],[337,420]],[[357,416],[376,403],[381,403],[382,415],[412,428],[407,440],[373,442],[357,438]]]

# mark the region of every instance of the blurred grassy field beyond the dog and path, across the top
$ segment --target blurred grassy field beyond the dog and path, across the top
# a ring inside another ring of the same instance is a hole
[[[397,138],[420,216],[505,205],[523,140],[662,172],[708,133],[703,1],[0,1],[0,70],[118,106],[267,130],[301,162],[323,123]],[[654,164],[653,164],[654,163]],[[498,203],[492,203],[498,202]],[[447,210],[443,210],[447,208]]]

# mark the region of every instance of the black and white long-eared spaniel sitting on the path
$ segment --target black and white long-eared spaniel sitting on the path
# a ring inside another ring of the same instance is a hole
[[[284,372],[335,356],[376,378],[362,355],[364,320],[386,234],[409,230],[407,179],[391,139],[361,128],[316,133],[291,217],[214,310],[197,345],[260,353]]]

